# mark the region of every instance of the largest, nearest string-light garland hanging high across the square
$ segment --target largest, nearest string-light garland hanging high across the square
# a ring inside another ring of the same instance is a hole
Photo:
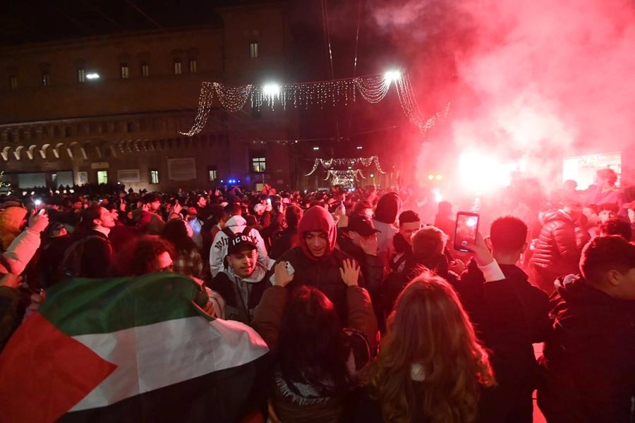
[[[200,133],[207,123],[207,116],[212,110],[214,97],[228,111],[236,112],[243,109],[247,100],[250,100],[252,109],[267,105],[274,110],[293,105],[295,108],[317,106],[323,109],[327,105],[337,106],[337,104],[348,105],[355,102],[359,94],[363,99],[371,104],[382,101],[388,94],[392,81],[397,90],[397,97],[404,114],[411,123],[416,125],[422,133],[432,128],[437,121],[445,118],[449,111],[449,103],[444,114],[435,114],[428,120],[423,120],[421,111],[416,102],[416,97],[412,90],[410,78],[405,71],[399,71],[397,76],[370,75],[357,78],[344,78],[339,80],[305,82],[288,85],[224,85],[220,82],[202,82],[198,98],[198,111],[194,118],[192,128],[188,132],[179,132],[189,137]]]

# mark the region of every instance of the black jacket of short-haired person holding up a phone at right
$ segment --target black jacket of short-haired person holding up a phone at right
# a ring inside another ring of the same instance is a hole
[[[532,344],[548,334],[548,297],[519,267],[500,264],[500,269],[503,281],[485,283],[472,260],[456,284],[478,338],[491,351],[498,384],[483,392],[477,422],[531,422],[532,393],[540,380]]]

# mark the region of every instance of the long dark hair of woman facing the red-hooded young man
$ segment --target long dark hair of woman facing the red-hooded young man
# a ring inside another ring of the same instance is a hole
[[[280,327],[278,363],[282,378],[310,384],[324,396],[348,391],[348,349],[333,303],[309,286],[291,294]]]

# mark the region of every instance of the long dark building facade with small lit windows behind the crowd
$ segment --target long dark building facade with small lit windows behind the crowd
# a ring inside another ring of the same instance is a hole
[[[0,163],[16,188],[120,182],[289,187],[293,114],[214,104],[192,137],[203,81],[284,80],[283,4],[219,9],[222,23],[0,49]]]

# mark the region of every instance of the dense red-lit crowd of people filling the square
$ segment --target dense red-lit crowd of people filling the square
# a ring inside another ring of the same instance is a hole
[[[598,172],[593,202],[566,184],[536,219],[501,211],[468,253],[452,204],[427,222],[391,190],[4,197],[0,351],[75,280],[174,272],[269,350],[236,376],[243,402],[215,391],[239,406],[211,421],[531,422],[538,390],[548,422],[632,423],[635,202],[616,180]]]

